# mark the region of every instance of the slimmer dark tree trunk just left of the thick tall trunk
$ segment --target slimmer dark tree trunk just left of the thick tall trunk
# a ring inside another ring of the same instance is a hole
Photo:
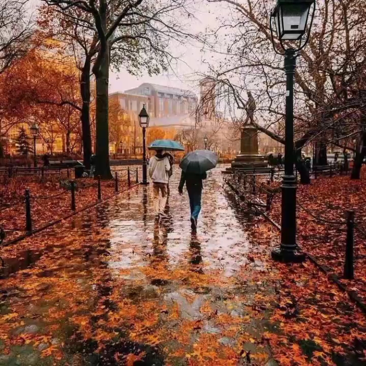
[[[90,169],[90,157],[92,156],[92,135],[90,133],[90,57],[86,57],[84,67],[81,70],[80,94],[82,99],[81,129],[83,146],[83,163],[86,169]]]

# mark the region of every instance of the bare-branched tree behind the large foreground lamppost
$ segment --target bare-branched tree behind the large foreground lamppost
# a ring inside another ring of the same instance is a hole
[[[228,115],[240,122],[245,119],[247,91],[250,90],[257,104],[255,126],[258,131],[284,143],[284,135],[276,133],[282,128],[273,128],[284,123],[286,81],[283,57],[268,52],[272,48],[269,15],[273,4],[250,0],[208,2],[230,9],[229,18],[223,15],[223,25],[212,33],[225,42],[226,52],[219,49],[215,62],[206,62],[207,76],[216,81],[220,93],[216,97],[226,100],[231,108]],[[333,140],[335,126],[340,137],[348,134],[349,123],[355,129],[362,128],[360,120],[348,117],[363,108],[357,92],[359,75],[365,68],[363,8],[352,0],[317,2],[309,45],[301,50],[295,73],[295,149],[302,182],[310,181],[300,158],[303,146],[315,143],[317,161],[324,164],[326,146]],[[275,47],[280,50],[276,40]]]

